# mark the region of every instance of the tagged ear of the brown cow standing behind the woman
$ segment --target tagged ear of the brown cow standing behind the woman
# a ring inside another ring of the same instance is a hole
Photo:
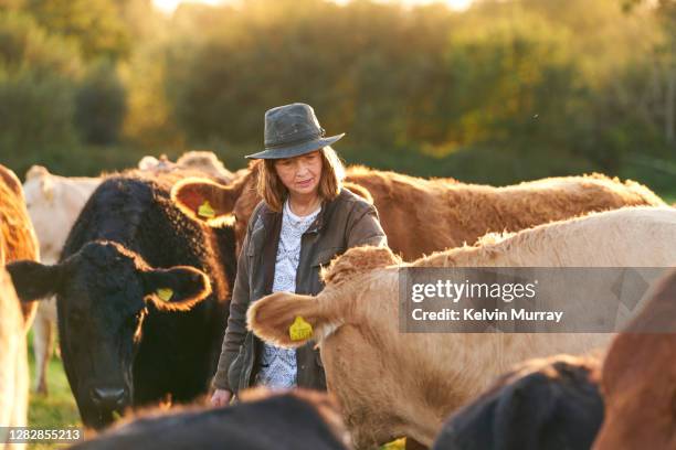
[[[171,200],[189,217],[211,222],[231,216],[237,190],[208,179],[189,178],[171,189]]]

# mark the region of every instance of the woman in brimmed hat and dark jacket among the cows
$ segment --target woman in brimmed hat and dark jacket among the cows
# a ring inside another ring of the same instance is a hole
[[[265,150],[246,157],[264,160],[257,186],[263,201],[237,261],[214,406],[254,384],[326,389],[313,344],[286,350],[258,341],[246,330],[246,309],[276,291],[317,294],[320,266],[350,247],[387,245],[376,208],[341,186],[345,171],[329,146],[344,136],[325,138],[309,105],[265,113]]]

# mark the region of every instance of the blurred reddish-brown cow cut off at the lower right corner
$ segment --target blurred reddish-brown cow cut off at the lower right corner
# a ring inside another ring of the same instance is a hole
[[[676,448],[676,270],[661,281],[603,362],[606,414],[595,450]]]

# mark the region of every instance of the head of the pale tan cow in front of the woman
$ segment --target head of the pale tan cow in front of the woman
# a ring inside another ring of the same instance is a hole
[[[421,353],[421,346],[400,334],[397,325],[398,270],[387,266],[398,261],[388,248],[351,248],[324,274],[326,287],[318,296],[275,292],[247,310],[249,328],[265,342],[320,345],[327,386],[339,399],[358,448],[409,435],[402,425],[409,427],[409,413],[427,424],[424,429],[439,421],[430,413],[437,409],[415,403],[418,390],[412,385],[419,385],[418,377],[400,383],[402,373],[388,369],[409,364]],[[373,410],[384,413],[370,414]],[[423,442],[422,433],[410,436]],[[429,437],[424,442],[431,441]]]

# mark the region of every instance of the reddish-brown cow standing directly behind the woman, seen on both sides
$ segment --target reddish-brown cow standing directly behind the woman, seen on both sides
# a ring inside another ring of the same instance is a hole
[[[208,180],[183,180],[172,192],[181,210],[198,219],[234,222],[237,251],[246,224],[261,201],[256,192],[260,162],[228,185]],[[646,186],[601,174],[549,178],[505,188],[465,184],[453,179],[420,179],[356,165],[346,182],[370,193],[388,236],[404,260],[432,251],[474,244],[489,232],[517,232],[592,211],[622,206],[664,206]],[[213,217],[199,215],[208,201]]]

